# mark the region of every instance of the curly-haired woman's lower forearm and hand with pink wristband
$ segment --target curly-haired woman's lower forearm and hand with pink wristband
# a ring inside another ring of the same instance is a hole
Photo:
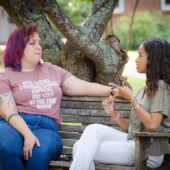
[[[103,101],[103,106],[108,115],[117,123],[117,125],[125,132],[128,132],[129,121],[123,118],[115,111],[114,97],[109,96]]]

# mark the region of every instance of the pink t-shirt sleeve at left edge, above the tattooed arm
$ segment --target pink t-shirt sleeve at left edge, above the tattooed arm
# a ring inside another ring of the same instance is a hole
[[[10,92],[10,91],[11,91],[11,88],[5,76],[5,72],[0,72],[0,94],[4,92]]]

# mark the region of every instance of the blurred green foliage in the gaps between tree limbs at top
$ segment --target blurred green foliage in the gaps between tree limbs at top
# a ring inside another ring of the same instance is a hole
[[[62,7],[66,15],[77,26],[85,21],[88,13],[90,12],[90,9],[92,8],[92,0],[58,0],[57,2]],[[57,35],[62,37],[61,33],[56,29],[55,25],[52,24],[50,20],[49,22],[56,31]]]

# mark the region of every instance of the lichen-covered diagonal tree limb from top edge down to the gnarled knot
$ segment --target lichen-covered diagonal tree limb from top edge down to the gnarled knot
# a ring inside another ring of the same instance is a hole
[[[100,74],[98,78],[101,83],[104,83],[102,80],[106,80],[107,74],[121,75],[122,69],[118,69],[119,65],[124,64],[121,53],[115,52],[114,48],[111,48],[105,42],[95,42],[87,36],[82,29],[76,27],[70,18],[65,15],[55,0],[35,1],[71,44],[94,62],[96,72]],[[113,80],[112,77],[108,77],[108,81],[111,79]]]

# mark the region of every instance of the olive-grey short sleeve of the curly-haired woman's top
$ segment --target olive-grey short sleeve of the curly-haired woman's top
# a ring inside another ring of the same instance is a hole
[[[159,81],[158,90],[152,99],[151,112],[160,112],[164,116],[168,116],[169,100],[166,84],[163,81]]]

